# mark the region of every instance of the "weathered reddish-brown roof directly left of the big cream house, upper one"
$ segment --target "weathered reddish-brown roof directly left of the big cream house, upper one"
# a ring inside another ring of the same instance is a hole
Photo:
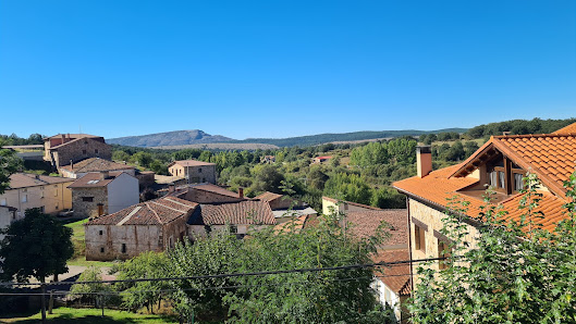
[[[405,209],[350,211],[346,213],[346,221],[352,224],[352,233],[357,237],[373,236],[383,221],[391,226],[390,229],[384,229],[384,233],[391,235],[383,242],[384,246],[408,244],[408,212]]]

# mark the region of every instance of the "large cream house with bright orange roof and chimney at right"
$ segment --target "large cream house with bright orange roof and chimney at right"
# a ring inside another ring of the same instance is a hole
[[[464,162],[432,171],[429,147],[417,148],[418,175],[400,180],[393,186],[408,197],[408,226],[410,233],[410,259],[442,258],[448,252],[450,239],[440,233],[442,219],[449,209],[449,198],[468,201],[464,219],[468,236],[475,248],[480,224],[482,195],[488,186],[495,190],[492,203],[508,212],[506,220],[520,220],[518,210],[525,175],[534,173],[541,185],[538,211],[543,219],[534,219],[542,228],[553,230],[566,216],[562,205],[568,200],[563,183],[575,170],[576,124],[546,135],[493,136]],[[439,261],[434,270],[445,265]],[[412,269],[417,279],[416,266]],[[414,283],[414,281],[413,281]]]

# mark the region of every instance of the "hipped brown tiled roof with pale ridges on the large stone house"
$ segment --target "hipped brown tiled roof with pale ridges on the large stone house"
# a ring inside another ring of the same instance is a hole
[[[198,204],[175,197],[162,197],[90,220],[86,225],[163,225],[188,215]]]

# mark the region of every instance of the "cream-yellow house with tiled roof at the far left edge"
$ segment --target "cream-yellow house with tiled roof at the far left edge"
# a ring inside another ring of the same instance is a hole
[[[56,214],[72,208],[72,192],[68,186],[73,182],[58,176],[15,173],[10,176],[4,194],[0,195],[0,205],[15,208],[19,216],[24,216],[24,212],[32,208]]]

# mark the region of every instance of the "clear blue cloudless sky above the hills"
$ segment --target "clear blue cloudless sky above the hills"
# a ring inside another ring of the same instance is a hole
[[[0,134],[576,116],[576,1],[0,2]]]

